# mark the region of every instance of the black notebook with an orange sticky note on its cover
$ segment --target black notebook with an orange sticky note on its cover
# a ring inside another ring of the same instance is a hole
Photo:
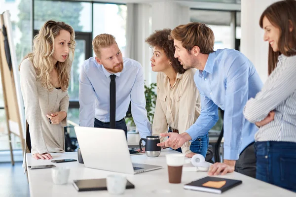
[[[212,188],[212,187],[206,187],[202,185],[204,183],[207,183],[208,181],[226,181],[226,183],[221,188]],[[184,189],[221,194],[222,192],[225,192],[240,184],[242,184],[242,181],[240,180],[207,176],[202,179],[198,179],[196,181],[192,181],[191,183],[184,185]]]

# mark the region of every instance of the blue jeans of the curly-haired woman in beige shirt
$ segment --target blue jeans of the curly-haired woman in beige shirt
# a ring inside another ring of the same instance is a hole
[[[209,148],[209,134],[205,134],[203,136],[198,137],[196,140],[191,142],[191,145],[190,145],[190,151],[192,151],[193,153],[201,154],[204,157],[206,157],[207,155],[208,148]],[[181,148],[176,149],[176,151],[182,153]]]

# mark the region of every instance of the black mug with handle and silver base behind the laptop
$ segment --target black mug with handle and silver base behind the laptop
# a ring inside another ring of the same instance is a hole
[[[141,138],[139,142],[140,150],[142,150],[141,143],[145,141],[145,152],[148,157],[158,157],[160,154],[161,147],[157,146],[160,143],[159,136],[150,135],[146,138]]]

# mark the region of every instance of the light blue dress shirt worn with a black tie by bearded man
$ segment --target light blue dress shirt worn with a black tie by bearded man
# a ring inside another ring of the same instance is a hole
[[[123,69],[116,75],[116,116],[123,119],[131,101],[132,116],[141,137],[151,134],[147,118],[144,73],[141,64],[123,58]],[[94,57],[85,60],[79,75],[79,125],[94,127],[95,118],[110,122],[110,75]]]

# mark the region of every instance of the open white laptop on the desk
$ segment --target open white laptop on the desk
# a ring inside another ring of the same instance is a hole
[[[74,127],[86,167],[138,174],[162,166],[132,163],[123,130]]]

